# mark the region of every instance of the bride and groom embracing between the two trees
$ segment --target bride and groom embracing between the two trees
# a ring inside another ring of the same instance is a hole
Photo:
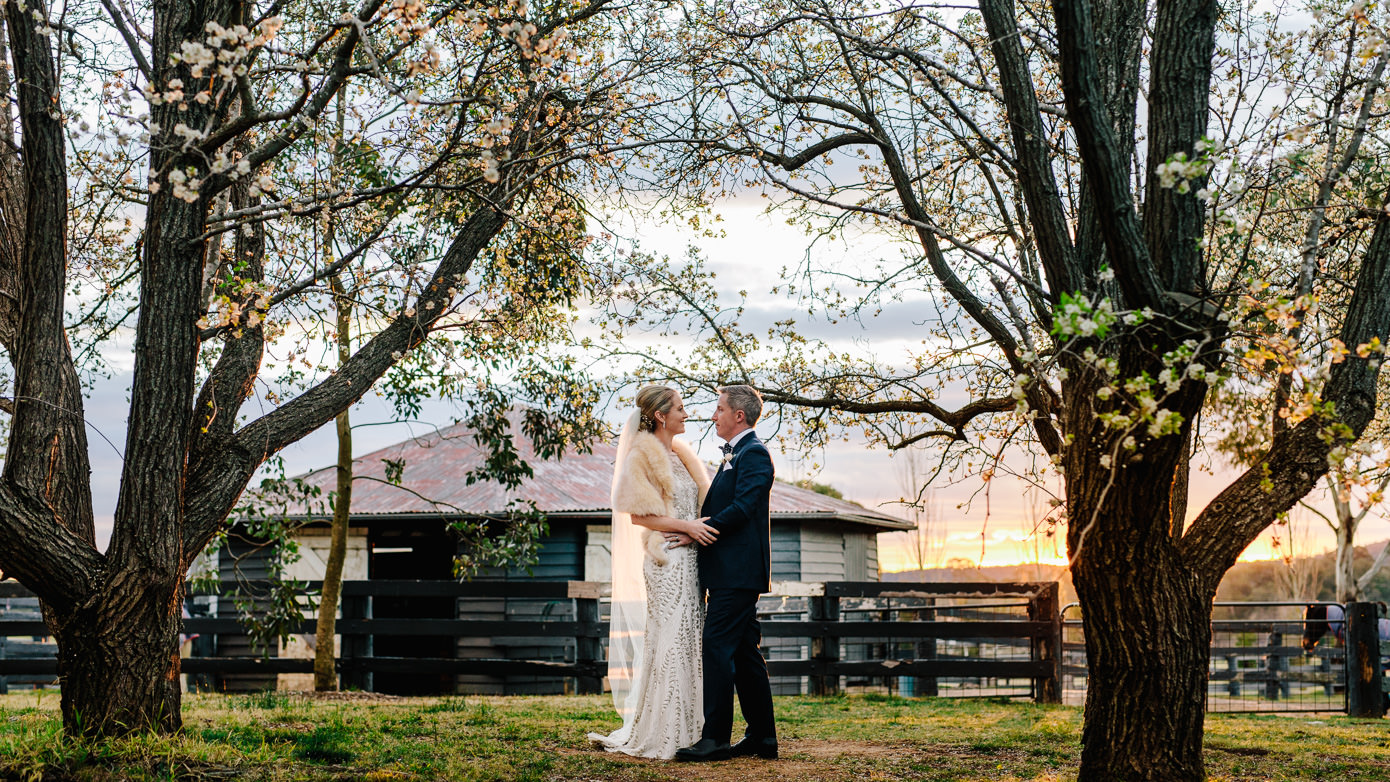
[[[720,389],[724,457],[710,479],[676,436],[680,393],[646,386],[613,471],[609,683],[623,726],[589,739],[609,751],[682,761],[777,757],[758,597],[770,588],[773,461],[753,432],[763,400]],[[730,746],[734,692],[748,728]]]

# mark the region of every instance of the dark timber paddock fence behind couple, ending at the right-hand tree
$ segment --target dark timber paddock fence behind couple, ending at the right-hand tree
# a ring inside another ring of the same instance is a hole
[[[317,586],[307,585],[307,594]],[[341,683],[399,694],[602,692],[606,589],[595,582],[345,582],[336,628]],[[1055,582],[778,582],[759,603],[769,674],[780,693],[1055,703],[1062,693],[1058,593]],[[313,672],[311,654],[282,656],[284,647],[246,654],[245,626],[218,615],[207,596],[190,596],[188,604],[182,672],[192,686],[264,689],[282,675]],[[417,615],[421,607],[434,615]],[[306,615],[291,629],[311,639],[314,619]],[[56,682],[47,632],[33,594],[0,583],[0,692]]]

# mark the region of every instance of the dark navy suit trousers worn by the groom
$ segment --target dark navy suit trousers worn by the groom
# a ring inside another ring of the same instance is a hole
[[[758,650],[756,589],[710,589],[705,611],[705,729],[702,738],[728,743],[734,732],[734,692],[755,739],[776,739],[767,661]]]

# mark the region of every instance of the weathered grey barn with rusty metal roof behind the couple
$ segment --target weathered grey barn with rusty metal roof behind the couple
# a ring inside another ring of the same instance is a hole
[[[354,579],[449,579],[459,543],[449,522],[466,517],[505,515],[513,500],[534,501],[549,519],[542,538],[539,561],[531,568],[482,574],[503,581],[598,581],[609,579],[610,510],[609,486],[616,447],[595,444],[592,453],[538,460],[527,438],[518,436],[521,457],[534,476],[516,490],[498,483],[470,485],[467,474],[485,456],[466,425],[431,431],[354,460],[349,553],[343,578]],[[713,469],[713,467],[710,467]],[[392,478],[388,479],[388,471]],[[399,471],[399,475],[396,475]],[[325,467],[302,478],[332,492],[336,469]],[[302,558],[289,567],[291,578],[322,578],[328,553],[328,519],[306,517],[299,533]],[[877,581],[877,536],[909,529],[910,522],[876,513],[859,504],[778,482],[771,494],[773,581]],[[245,567],[254,565],[238,565]],[[225,568],[224,568],[225,569]],[[378,618],[567,618],[567,601],[535,599],[411,599],[378,600]],[[295,639],[282,656],[311,656],[309,642]],[[385,647],[396,644],[392,647]],[[510,657],[531,660],[573,658],[573,640],[557,643],[545,638],[491,639],[413,638],[377,639],[375,654],[402,657]],[[776,649],[769,650],[777,657]],[[787,650],[792,654],[794,650]],[[799,656],[801,650],[795,650]],[[460,693],[552,693],[559,679],[484,678],[377,674],[373,689],[396,694]],[[299,689],[304,682],[281,676],[281,686]]]

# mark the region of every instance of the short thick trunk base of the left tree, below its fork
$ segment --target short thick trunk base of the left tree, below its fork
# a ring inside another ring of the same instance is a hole
[[[97,600],[57,617],[64,729],[92,738],[178,731],[183,582],[171,590],[125,571],[106,586]]]

